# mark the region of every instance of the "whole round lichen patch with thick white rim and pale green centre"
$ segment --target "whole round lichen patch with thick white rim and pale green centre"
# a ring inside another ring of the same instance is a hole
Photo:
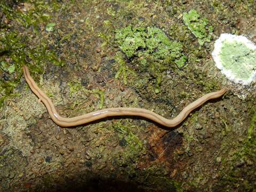
[[[248,85],[256,77],[256,46],[244,36],[221,34],[212,57],[221,72],[235,83]]]

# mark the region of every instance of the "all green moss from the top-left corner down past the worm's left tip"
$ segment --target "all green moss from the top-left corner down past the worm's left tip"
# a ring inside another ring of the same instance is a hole
[[[38,26],[44,24],[50,19],[47,11],[57,11],[61,4],[52,2],[51,5],[44,1],[27,1],[31,3],[28,11],[22,12],[19,9],[13,9],[8,4],[0,2],[0,9],[5,14],[6,18],[13,20],[20,25],[20,28],[28,28],[33,26],[32,33],[38,34]],[[0,37],[0,73],[7,76],[7,80],[0,80],[0,106],[3,101],[12,94],[13,89],[19,84],[22,76],[21,66],[28,65],[31,74],[42,74],[42,66],[46,63],[53,63],[57,66],[63,66],[57,54],[49,49],[45,39],[38,42],[36,46],[31,46],[30,35],[21,35],[17,30],[8,30],[1,34]]]

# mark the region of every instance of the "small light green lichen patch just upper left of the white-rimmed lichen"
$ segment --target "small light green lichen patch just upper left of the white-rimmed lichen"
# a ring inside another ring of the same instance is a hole
[[[183,21],[188,29],[198,38],[199,45],[211,41],[213,27],[207,27],[209,21],[206,18],[201,18],[201,15],[196,10],[192,9],[188,13],[184,13]]]

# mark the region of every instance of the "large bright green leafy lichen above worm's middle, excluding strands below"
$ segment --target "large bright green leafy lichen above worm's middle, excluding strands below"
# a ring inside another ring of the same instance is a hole
[[[171,41],[157,27],[128,26],[118,31],[115,38],[124,54],[128,58],[139,57],[141,65],[147,65],[148,60],[169,62],[185,58],[182,54],[182,44]]]

